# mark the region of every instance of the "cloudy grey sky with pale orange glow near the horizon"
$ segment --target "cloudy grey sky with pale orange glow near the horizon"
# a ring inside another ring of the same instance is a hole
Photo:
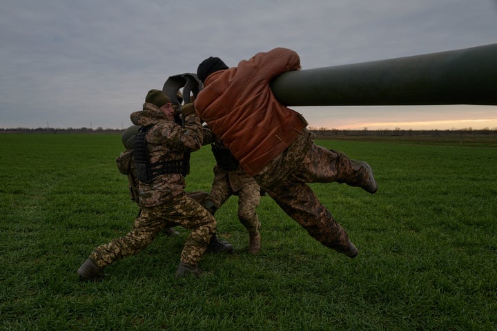
[[[207,57],[302,69],[497,43],[497,0],[2,0],[0,128],[127,128]],[[296,107],[313,128],[497,128],[497,106]]]

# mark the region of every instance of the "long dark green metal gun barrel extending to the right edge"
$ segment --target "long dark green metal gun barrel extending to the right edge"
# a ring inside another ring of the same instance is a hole
[[[286,106],[497,105],[497,43],[285,72],[271,90]]]

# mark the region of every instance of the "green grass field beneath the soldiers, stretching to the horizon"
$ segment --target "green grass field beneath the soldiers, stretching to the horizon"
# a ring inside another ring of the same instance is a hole
[[[0,135],[1,330],[497,330],[497,147],[317,141],[368,161],[380,189],[312,184],[360,254],[324,248],[269,198],[262,252],[246,252],[236,198],[216,214],[234,254],[174,278],[188,232],[106,268],[76,270],[137,214],[116,134]],[[208,147],[187,190],[208,190]]]

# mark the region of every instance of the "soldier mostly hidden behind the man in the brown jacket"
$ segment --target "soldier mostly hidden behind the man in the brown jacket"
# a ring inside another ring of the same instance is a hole
[[[214,214],[229,197],[237,195],[238,219],[249,232],[249,252],[257,254],[260,252],[260,221],[255,209],[260,203],[260,186],[240,168],[240,163],[220,139],[214,136],[211,147],[216,165],[213,170],[213,185],[204,201],[204,207]]]

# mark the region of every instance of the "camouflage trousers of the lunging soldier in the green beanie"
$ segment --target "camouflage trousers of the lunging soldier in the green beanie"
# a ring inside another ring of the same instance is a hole
[[[175,225],[191,230],[181,253],[181,261],[197,265],[215,233],[216,221],[202,205],[186,195],[170,203],[142,208],[128,234],[100,245],[89,258],[99,267],[104,267],[144,250],[161,230]]]

